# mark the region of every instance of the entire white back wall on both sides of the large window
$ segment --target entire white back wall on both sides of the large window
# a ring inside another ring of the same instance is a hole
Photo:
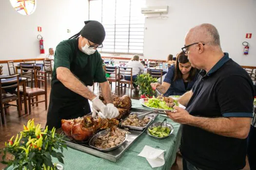
[[[87,0],[37,0],[36,11],[22,16],[9,0],[0,5],[0,60],[42,58],[37,35],[44,37],[47,53],[83,27],[88,19]],[[187,31],[201,23],[214,24],[220,34],[223,51],[240,65],[256,66],[256,0],[146,0],[147,6],[168,5],[166,19],[146,18],[144,57],[165,60],[184,46]],[[37,32],[37,27],[42,32]],[[71,33],[67,33],[67,29]],[[252,39],[245,34],[252,33]],[[243,55],[242,42],[250,43],[249,55]],[[114,56],[113,54],[101,54]],[[121,57],[132,55],[121,54]],[[4,65],[4,73],[8,73]]]

